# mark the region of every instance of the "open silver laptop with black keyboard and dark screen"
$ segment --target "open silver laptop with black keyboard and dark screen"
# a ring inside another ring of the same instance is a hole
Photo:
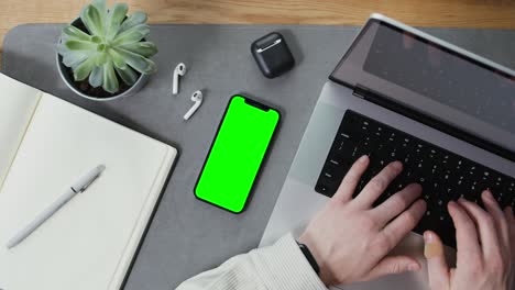
[[[425,230],[453,256],[447,203],[481,204],[491,189],[515,205],[515,71],[381,14],[372,14],[325,83],[261,241],[299,235],[336,192],[352,163],[370,155],[357,193],[384,166],[404,163],[381,203],[410,182],[427,211],[394,249],[424,269],[348,289],[428,289]]]

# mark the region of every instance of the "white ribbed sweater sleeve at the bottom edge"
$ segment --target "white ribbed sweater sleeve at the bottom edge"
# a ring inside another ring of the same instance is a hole
[[[190,278],[176,290],[206,289],[327,290],[291,234]]]

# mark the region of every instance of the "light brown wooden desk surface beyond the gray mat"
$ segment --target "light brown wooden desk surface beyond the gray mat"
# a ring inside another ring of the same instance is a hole
[[[131,11],[147,12],[151,23],[361,25],[370,13],[381,12],[418,26],[515,29],[513,0],[119,0],[123,1]],[[87,2],[1,0],[0,42],[19,24],[69,22]]]

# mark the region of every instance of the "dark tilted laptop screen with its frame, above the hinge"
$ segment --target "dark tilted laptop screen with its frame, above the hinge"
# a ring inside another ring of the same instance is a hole
[[[515,76],[509,69],[371,19],[331,79],[515,152]]]

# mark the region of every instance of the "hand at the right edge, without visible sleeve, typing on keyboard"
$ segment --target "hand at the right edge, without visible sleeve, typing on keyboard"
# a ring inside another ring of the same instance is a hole
[[[481,198],[486,211],[465,200],[448,204],[456,227],[456,268],[447,266],[441,239],[434,232],[424,233],[431,289],[514,289],[515,219],[512,209],[503,212],[490,191],[484,191]]]

